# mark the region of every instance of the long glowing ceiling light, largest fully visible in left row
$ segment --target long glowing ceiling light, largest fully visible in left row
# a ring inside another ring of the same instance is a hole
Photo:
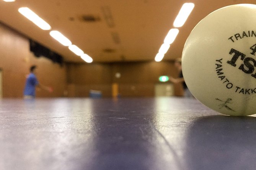
[[[51,26],[45,22],[42,18],[40,18],[36,13],[31,11],[28,7],[22,7],[18,10],[21,14],[23,14],[26,18],[36,24],[43,30],[50,30]]]

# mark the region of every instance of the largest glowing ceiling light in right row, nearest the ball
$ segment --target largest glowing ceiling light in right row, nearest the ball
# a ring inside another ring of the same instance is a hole
[[[181,27],[184,25],[186,20],[188,19],[189,14],[194,8],[194,3],[184,3],[179,10],[178,15],[176,16],[176,19],[173,22],[174,27]]]

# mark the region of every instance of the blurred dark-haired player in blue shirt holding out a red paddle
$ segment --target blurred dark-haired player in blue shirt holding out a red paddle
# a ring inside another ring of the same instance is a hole
[[[52,92],[52,89],[50,87],[46,87],[44,85],[41,85],[37,78],[36,78],[36,66],[30,67],[30,74],[27,77],[26,85],[24,88],[24,98],[35,98],[36,97],[36,87],[42,88],[44,90],[47,90],[49,92]]]

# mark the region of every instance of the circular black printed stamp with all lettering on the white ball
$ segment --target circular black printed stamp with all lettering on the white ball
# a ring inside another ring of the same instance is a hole
[[[256,38],[256,32],[252,31],[243,31],[241,34],[237,33],[228,37],[232,43],[236,43],[243,38]],[[242,95],[252,95],[256,93],[256,85],[255,87],[241,87],[237,85],[236,82],[232,82],[230,77],[227,77],[225,74],[225,69],[223,69],[224,64],[228,64],[228,66],[233,67],[234,76],[236,71],[240,71],[245,75],[250,75],[252,79],[256,79],[256,39],[255,43],[248,45],[248,51],[250,53],[246,54],[246,51],[239,51],[236,48],[230,48],[229,53],[226,56],[222,56],[222,58],[215,60],[215,72],[218,79],[222,82],[222,84],[229,90],[233,90],[234,93],[239,93]],[[245,82],[246,83],[246,82]]]

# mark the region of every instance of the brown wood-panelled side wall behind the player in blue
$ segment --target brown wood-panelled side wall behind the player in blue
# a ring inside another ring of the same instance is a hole
[[[37,91],[37,97],[64,96],[67,88],[66,67],[46,58],[36,58],[29,50],[28,38],[0,23],[0,68],[3,70],[3,97],[21,98],[32,64],[38,66],[40,83],[54,88],[53,93]]]

